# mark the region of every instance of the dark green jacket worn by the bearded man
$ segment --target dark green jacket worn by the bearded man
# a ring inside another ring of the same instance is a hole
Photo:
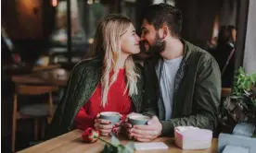
[[[172,119],[164,121],[165,109],[160,101],[156,66],[160,57],[145,61],[145,111],[156,113],[162,124],[162,135],[173,135],[175,126],[192,125],[214,130],[221,100],[221,74],[210,53],[182,40],[185,53],[174,78]],[[161,64],[160,64],[161,66]]]

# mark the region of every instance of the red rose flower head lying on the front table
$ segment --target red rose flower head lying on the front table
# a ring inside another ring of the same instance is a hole
[[[86,143],[96,142],[98,137],[99,137],[98,130],[93,129],[91,127],[86,128],[82,134],[83,141]]]

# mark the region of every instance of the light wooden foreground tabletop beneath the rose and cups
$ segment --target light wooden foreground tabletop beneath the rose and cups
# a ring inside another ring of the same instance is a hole
[[[43,153],[43,152],[70,152],[70,153],[93,153],[102,151],[104,144],[101,141],[97,141],[93,144],[83,143],[82,131],[74,130],[68,134],[60,135],[56,138],[45,141],[44,143],[38,144],[33,147],[19,151],[19,153]],[[109,136],[102,137],[103,139],[110,141]],[[128,141],[121,139],[121,143],[125,145]],[[135,153],[151,153],[151,152],[170,152],[170,153],[216,153],[217,152],[217,139],[212,139],[211,148],[205,150],[182,150],[173,144],[173,138],[171,137],[159,137],[155,142],[164,142],[169,146],[168,150],[146,150],[146,151],[135,151]]]

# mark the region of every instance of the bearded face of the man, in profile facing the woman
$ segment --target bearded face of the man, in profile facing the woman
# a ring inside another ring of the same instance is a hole
[[[141,52],[152,55],[154,53],[161,53],[165,49],[166,42],[160,39],[158,30],[153,25],[148,24],[147,19],[143,20],[141,30]]]

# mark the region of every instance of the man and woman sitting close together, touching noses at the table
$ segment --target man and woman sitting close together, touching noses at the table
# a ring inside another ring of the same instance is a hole
[[[99,112],[143,113],[147,125],[124,124],[129,137],[152,141],[173,135],[175,126],[214,130],[221,96],[221,75],[211,55],[180,38],[182,16],[166,4],[144,11],[139,38],[128,18],[109,16],[96,29],[89,60],[76,65],[50,126],[50,137],[74,128],[95,127],[101,135],[113,128]],[[151,56],[144,67],[132,54]]]

